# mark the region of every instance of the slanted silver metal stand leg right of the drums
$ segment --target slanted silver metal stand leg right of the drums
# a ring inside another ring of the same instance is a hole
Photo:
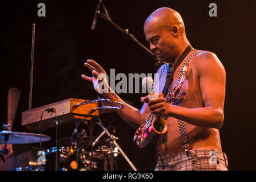
[[[126,159],[126,161],[129,163],[130,167],[133,168],[134,171],[138,171],[133,163],[131,163],[131,161],[129,160],[129,158],[125,155],[125,152],[123,152],[122,148],[118,145],[118,143],[115,141],[116,137],[114,135],[111,135],[109,133],[109,131],[107,131],[107,129],[102,125],[101,122],[97,122],[97,124],[102,128],[103,132],[105,131],[105,133],[107,134],[107,136],[113,141],[113,144],[118,148],[118,151],[121,152],[121,154],[123,155],[123,157]],[[102,135],[101,135],[102,136]],[[98,138],[97,138],[98,139]],[[95,143],[94,143],[95,144]],[[111,147],[111,146],[110,146]],[[113,147],[112,147],[113,148]],[[113,155],[113,152],[112,154]],[[113,158],[112,158],[112,162],[110,162],[110,168],[113,169]]]

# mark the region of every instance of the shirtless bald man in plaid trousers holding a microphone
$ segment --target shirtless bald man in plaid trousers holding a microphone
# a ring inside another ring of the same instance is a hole
[[[169,62],[172,67],[190,45],[181,15],[167,7],[154,11],[146,19],[144,33],[155,56]],[[186,58],[194,51],[192,48]],[[169,90],[177,84],[179,71],[186,58],[175,69]],[[98,92],[100,81],[97,77],[99,73],[106,72],[93,60],[87,60],[85,66],[90,69],[93,77],[82,75],[82,78],[93,82],[94,89]],[[159,68],[158,73],[162,68],[163,66]],[[161,144],[158,142],[159,159],[156,170],[227,170],[227,158],[222,152],[218,130],[224,120],[226,82],[226,73],[221,61],[209,51],[199,51],[190,60],[185,82],[179,92],[181,106],[167,104],[161,93],[165,86],[167,71],[159,79],[158,98],[150,100],[149,95],[142,97],[141,101],[144,104],[141,110],[126,104],[115,93],[103,93],[102,96],[123,102],[125,107],[117,110],[117,113],[135,128],[145,123],[145,118],[150,112],[169,117],[166,141]],[[185,125],[189,140],[187,152],[184,151],[182,144],[178,120],[182,120]],[[215,153],[210,153],[213,150]],[[217,159],[214,164],[210,163],[211,155]]]

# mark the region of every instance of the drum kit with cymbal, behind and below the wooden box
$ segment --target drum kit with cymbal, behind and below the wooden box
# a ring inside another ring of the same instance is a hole
[[[9,131],[8,127],[10,125],[3,125],[3,130],[0,131],[0,144],[5,144],[5,148],[0,151],[1,158],[3,161],[3,155],[8,154],[6,148],[7,144],[30,144],[46,142],[51,139],[47,135],[40,135],[34,133],[21,133]],[[103,145],[99,145],[93,152],[86,150],[85,145],[90,145],[90,137],[83,137],[85,130],[79,133],[79,137],[71,136],[72,141],[71,146],[61,146],[59,147],[59,168],[61,171],[89,171],[89,170],[113,170],[113,157],[117,156],[120,152],[117,147],[113,147],[113,135],[109,138],[104,138]],[[106,132],[103,131],[103,134]],[[102,135],[99,137],[102,137]],[[82,136],[81,136],[82,135]],[[93,146],[99,140],[99,137],[93,137]],[[81,142],[82,138],[82,142]],[[76,141],[75,141],[76,140]],[[78,144],[79,143],[79,144]],[[102,142],[101,142],[102,144]],[[57,147],[47,148],[43,150],[45,158],[42,158],[46,163],[45,165],[39,165],[37,167],[18,167],[12,169],[13,171],[53,171],[55,167],[55,154],[57,152]]]

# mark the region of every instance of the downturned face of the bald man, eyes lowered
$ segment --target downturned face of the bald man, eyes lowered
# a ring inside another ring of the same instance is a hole
[[[175,39],[167,28],[158,27],[156,23],[148,23],[144,26],[147,42],[150,50],[162,61],[171,61],[175,55]]]

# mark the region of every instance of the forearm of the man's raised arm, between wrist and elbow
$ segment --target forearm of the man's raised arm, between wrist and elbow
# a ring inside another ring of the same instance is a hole
[[[102,96],[104,98],[123,103],[123,109],[117,109],[115,111],[117,112],[119,117],[123,119],[123,121],[134,127],[134,129],[138,129],[138,126],[142,125],[142,123],[145,122],[145,117],[143,116],[143,114],[141,114],[141,111],[124,102],[117,94],[103,93]]]

